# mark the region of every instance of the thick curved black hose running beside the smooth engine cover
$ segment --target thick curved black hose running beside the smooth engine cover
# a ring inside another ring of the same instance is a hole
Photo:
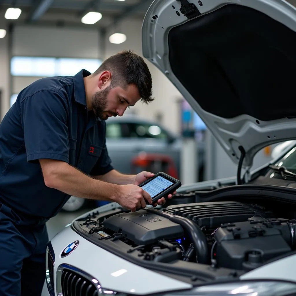
[[[189,235],[189,238],[193,242],[198,263],[208,264],[209,258],[207,249],[207,238],[196,224],[194,224],[191,220],[187,218],[177,215],[175,216],[152,207],[148,207],[147,212],[155,213],[157,215],[169,218],[170,221],[181,225],[183,229],[186,230],[186,232]]]

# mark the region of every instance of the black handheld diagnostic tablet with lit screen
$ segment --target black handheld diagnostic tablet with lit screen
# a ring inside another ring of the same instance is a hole
[[[155,174],[152,178],[139,184],[146,192],[148,192],[153,202],[161,197],[167,197],[181,186],[181,182],[163,172]]]

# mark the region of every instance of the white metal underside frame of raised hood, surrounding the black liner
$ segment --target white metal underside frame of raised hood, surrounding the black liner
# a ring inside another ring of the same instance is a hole
[[[250,7],[270,16],[296,32],[296,9],[293,5],[282,0],[213,0],[213,1],[190,1],[198,7],[202,15],[206,15],[226,4],[236,4]],[[172,9],[175,7],[175,9]],[[221,144],[234,163],[239,163],[241,152],[239,146],[244,147],[246,156],[243,167],[250,168],[256,152],[270,144],[295,138],[295,118],[281,118],[278,120],[261,121],[256,123],[256,118],[242,114],[235,118],[223,118],[203,110],[189,91],[181,84],[174,75],[168,49],[169,31],[188,20],[184,15],[177,15],[181,3],[171,1],[154,1],[146,13],[142,25],[142,48],[144,57],[152,62],[163,72],[176,86],[192,108],[197,112],[214,137]],[[153,16],[157,18],[153,19]],[[198,17],[197,17],[198,18]],[[195,36],[198,38],[198,36]],[[216,44],[219,46],[219,44]],[[184,70],[186,65],[184,65]],[[198,88],[198,82],[196,87]],[[283,86],[284,87],[284,86]],[[227,102],[225,102],[227,104]],[[263,110],[264,112],[264,110]]]

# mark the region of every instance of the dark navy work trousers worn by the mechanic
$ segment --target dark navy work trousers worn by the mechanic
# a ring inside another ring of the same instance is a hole
[[[0,296],[41,295],[47,242],[45,223],[26,221],[0,202]]]

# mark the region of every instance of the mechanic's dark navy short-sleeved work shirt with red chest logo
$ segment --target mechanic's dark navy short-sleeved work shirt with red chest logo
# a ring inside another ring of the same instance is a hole
[[[89,175],[113,169],[105,121],[86,106],[83,77],[90,74],[42,78],[20,92],[0,124],[0,204],[41,220],[61,209],[70,196],[44,184],[42,158]]]

